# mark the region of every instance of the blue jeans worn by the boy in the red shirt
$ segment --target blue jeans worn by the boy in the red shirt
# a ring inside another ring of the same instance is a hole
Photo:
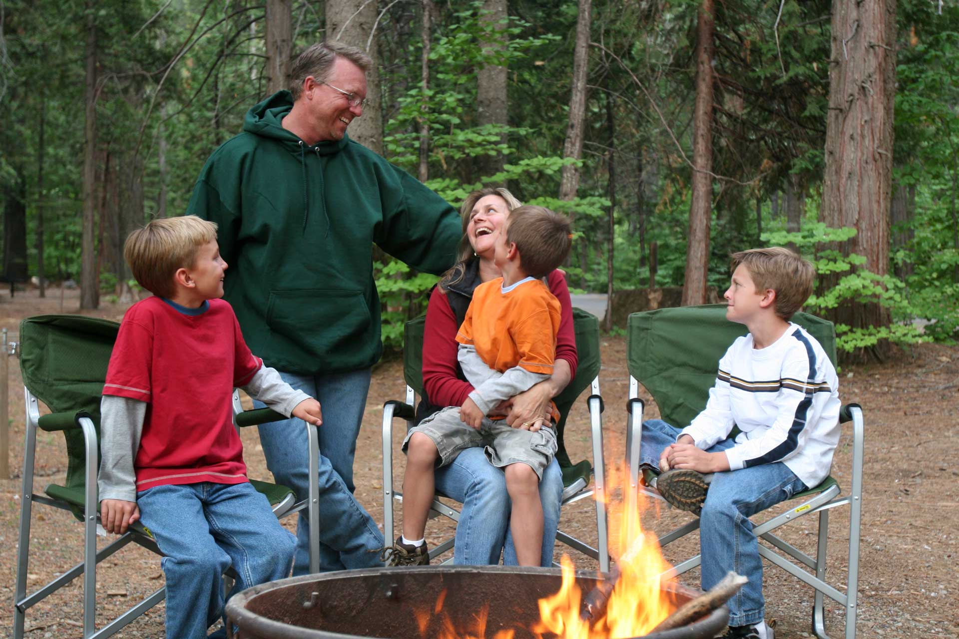
[[[237,573],[231,595],[290,574],[295,539],[247,482],[156,486],[136,501],[164,555],[168,639],[206,637],[222,615],[230,565]]]

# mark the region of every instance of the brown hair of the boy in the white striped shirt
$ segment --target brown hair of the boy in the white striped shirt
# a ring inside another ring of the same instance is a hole
[[[730,268],[742,264],[758,292],[767,288],[776,291],[776,314],[784,320],[806,304],[812,295],[816,269],[810,262],[783,246],[754,248],[734,253]]]

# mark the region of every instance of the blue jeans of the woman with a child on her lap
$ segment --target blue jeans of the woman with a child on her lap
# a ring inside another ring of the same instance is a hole
[[[502,468],[489,463],[482,448],[466,448],[449,465],[436,468],[436,490],[462,503],[456,525],[456,564],[518,565],[513,537],[509,533],[511,504]],[[552,564],[552,549],[559,526],[559,507],[563,497],[563,474],[553,459],[543,471],[540,501],[543,502],[542,564]],[[505,547],[503,547],[505,546]]]

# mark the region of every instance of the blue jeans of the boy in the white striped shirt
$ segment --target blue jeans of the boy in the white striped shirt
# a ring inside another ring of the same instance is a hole
[[[678,428],[662,420],[643,422],[640,462],[658,470],[660,455],[676,442],[679,433]],[[707,451],[734,445],[736,442],[727,439]],[[765,616],[762,559],[749,517],[805,490],[806,484],[782,462],[713,475],[699,515],[699,552],[703,559],[700,585],[709,590],[730,570],[749,579],[727,604],[730,626],[759,624]]]

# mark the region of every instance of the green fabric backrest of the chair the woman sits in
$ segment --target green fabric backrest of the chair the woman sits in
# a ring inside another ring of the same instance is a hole
[[[423,332],[426,319],[423,316],[409,320],[403,333],[403,376],[407,384],[423,397]],[[582,308],[573,308],[573,331],[576,335],[576,377],[566,389],[553,398],[559,410],[560,420],[556,428],[559,450],[556,459],[560,467],[572,466],[566,446],[563,444],[563,432],[566,418],[573,402],[599,374],[599,321]]]

